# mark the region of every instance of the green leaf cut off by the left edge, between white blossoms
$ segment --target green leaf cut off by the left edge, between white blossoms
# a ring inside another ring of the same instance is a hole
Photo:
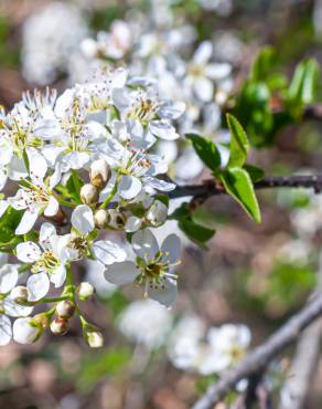
[[[11,247],[23,241],[22,235],[15,235],[23,211],[15,210],[11,206],[0,219],[0,247]]]

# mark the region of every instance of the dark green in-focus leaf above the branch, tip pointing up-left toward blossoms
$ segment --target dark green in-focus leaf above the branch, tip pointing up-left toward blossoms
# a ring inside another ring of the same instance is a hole
[[[185,134],[185,137],[192,141],[194,150],[207,168],[216,171],[221,167],[221,154],[212,140],[196,134]]]

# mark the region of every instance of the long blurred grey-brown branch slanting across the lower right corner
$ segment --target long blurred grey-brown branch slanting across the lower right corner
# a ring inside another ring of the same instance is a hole
[[[224,374],[217,384],[211,386],[206,394],[193,406],[193,409],[214,408],[239,380],[265,370],[272,358],[293,343],[301,332],[321,315],[322,294],[319,293],[313,301],[290,318],[267,342],[249,353],[235,368]]]

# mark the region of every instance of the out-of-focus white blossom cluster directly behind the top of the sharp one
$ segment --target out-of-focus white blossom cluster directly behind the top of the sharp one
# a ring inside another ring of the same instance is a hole
[[[82,63],[79,61],[77,65],[86,71],[86,63],[89,70],[107,62],[127,61],[133,75],[158,80],[155,86],[162,97],[180,99],[186,105],[179,119],[180,132],[200,132],[212,137],[218,144],[225,164],[229,135],[221,129],[221,107],[233,88],[232,64],[215,61],[211,40],[201,42],[195,49],[194,28],[175,24],[171,9],[168,12],[169,21],[159,21],[153,8],[151,15],[140,24],[137,18],[135,21],[114,21],[108,32],[100,31],[96,39],[83,40],[80,51],[85,61],[80,59]],[[167,153],[170,162],[176,159],[174,169],[171,169],[173,177],[194,178],[203,169],[190,146],[167,140],[160,143],[158,149]]]

